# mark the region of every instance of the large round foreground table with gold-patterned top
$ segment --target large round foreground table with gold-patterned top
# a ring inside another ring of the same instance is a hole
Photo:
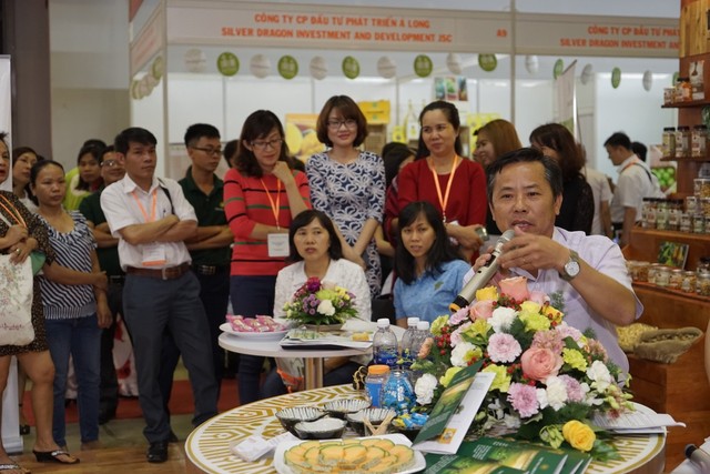
[[[185,441],[189,471],[215,474],[273,474],[272,460],[246,463],[230,452],[230,443],[251,435],[264,438],[284,432],[274,414],[281,409],[298,405],[322,405],[336,399],[362,397],[362,392],[348,385],[296,392],[260,400],[221,413],[197,426]],[[591,463],[589,474],[660,474],[665,464],[665,435],[619,437],[615,445],[623,457],[607,465]]]

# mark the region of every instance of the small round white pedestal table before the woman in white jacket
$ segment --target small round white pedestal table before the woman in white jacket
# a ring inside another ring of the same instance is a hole
[[[371,355],[372,349],[283,349],[278,341],[265,341],[263,339],[239,337],[233,334],[222,333],[220,346],[240,354],[261,355],[264,357],[303,357],[305,360],[305,387],[306,390],[321,389],[323,386],[323,359],[353,355]]]

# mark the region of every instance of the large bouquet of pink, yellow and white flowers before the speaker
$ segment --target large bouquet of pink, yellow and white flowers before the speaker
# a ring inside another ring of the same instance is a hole
[[[632,410],[620,369],[592,334],[564,322],[555,307],[561,304],[529,292],[525,278],[499,286],[500,294],[495,286],[478,290],[474,304],[432,324],[433,339],[412,365],[422,373],[415,384],[420,409],[434,406],[456,372],[483,360],[481,371],[495,380],[474,420],[476,434],[496,430],[556,448],[566,443],[598,460],[617,457],[590,418]]]

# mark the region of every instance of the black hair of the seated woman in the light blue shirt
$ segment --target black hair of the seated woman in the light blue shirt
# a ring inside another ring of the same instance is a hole
[[[460,255],[452,244],[444,226],[444,219],[439,211],[428,201],[416,201],[405,205],[399,212],[398,242],[395,248],[395,271],[397,278],[406,284],[412,284],[417,279],[414,256],[404,245],[402,232],[412,225],[417,218],[423,216],[434,229],[434,243],[426,255],[426,272],[438,274],[442,272],[442,263],[460,260]]]

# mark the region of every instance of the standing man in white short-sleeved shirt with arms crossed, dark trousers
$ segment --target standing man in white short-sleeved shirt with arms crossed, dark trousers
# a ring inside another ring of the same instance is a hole
[[[123,307],[138,372],[139,401],[150,443],[148,462],[168,460],[170,416],[159,384],[166,329],[182,353],[195,399],[197,426],[217,413],[217,382],[210,327],[200,301],[200,282],[190,271],[184,243],[195,235],[197,218],[174,180],[155,178],[155,137],[130,128],[115,138],[125,177],[101,194],[101,208],[125,271]]]

